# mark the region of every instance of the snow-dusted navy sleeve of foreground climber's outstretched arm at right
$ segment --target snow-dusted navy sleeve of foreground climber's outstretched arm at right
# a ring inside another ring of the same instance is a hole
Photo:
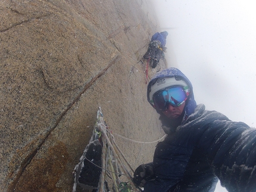
[[[211,119],[213,115],[215,120]],[[208,115],[211,123],[202,130],[198,146],[204,149],[214,174],[227,190],[255,191],[256,129],[218,117],[218,113]]]

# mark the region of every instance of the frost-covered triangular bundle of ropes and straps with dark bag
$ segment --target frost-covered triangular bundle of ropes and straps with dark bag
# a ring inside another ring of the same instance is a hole
[[[85,147],[80,162],[74,168],[73,192],[78,192],[79,188],[93,192],[141,191],[141,188],[136,188],[133,184],[132,176],[123,161],[134,173],[115,143],[110,127],[103,118],[99,107],[92,137]]]

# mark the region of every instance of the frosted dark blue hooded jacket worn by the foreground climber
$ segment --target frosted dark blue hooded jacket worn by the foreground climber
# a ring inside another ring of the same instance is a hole
[[[191,86],[191,95],[182,124],[164,124],[169,130],[155,149],[155,180],[146,182],[144,191],[213,192],[219,179],[228,191],[255,192],[256,129],[196,105],[191,82],[179,70],[158,73],[149,86],[158,77],[173,76]]]

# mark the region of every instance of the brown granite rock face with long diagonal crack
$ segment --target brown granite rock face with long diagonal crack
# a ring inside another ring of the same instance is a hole
[[[71,191],[98,106],[116,134],[164,135],[141,62],[158,31],[149,1],[6,0],[0,12],[0,191]],[[155,144],[116,141],[134,168],[152,160]]]

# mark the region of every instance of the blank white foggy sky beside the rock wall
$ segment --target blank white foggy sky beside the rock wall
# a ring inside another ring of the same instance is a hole
[[[168,65],[191,80],[196,102],[256,127],[255,2],[155,0],[154,5],[161,31],[168,32]]]

